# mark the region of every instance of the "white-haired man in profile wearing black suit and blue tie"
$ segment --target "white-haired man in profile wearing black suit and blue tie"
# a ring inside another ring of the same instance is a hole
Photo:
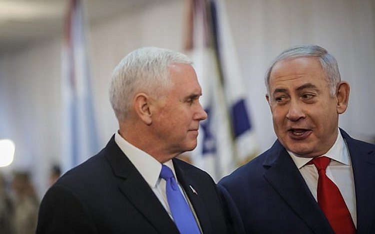
[[[197,144],[201,94],[184,54],[126,55],[109,89],[119,130],[47,191],[36,233],[226,233],[211,177],[175,158]]]

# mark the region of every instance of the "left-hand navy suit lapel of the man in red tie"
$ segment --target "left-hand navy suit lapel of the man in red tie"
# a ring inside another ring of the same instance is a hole
[[[278,141],[270,149],[263,166],[268,168],[265,179],[313,232],[332,233],[303,177]]]

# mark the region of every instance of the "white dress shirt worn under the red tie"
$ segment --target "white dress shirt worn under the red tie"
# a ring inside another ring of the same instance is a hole
[[[306,165],[312,159],[298,157],[298,155],[290,151],[288,151],[288,153],[317,201],[317,169],[313,164]],[[351,167],[350,155],[340,131],[338,131],[337,139],[333,146],[322,156],[332,159],[325,170],[325,174],[338,187],[356,227],[357,218],[353,170]]]

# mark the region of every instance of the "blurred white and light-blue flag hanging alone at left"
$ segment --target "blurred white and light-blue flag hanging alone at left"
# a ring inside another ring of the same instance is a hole
[[[62,168],[77,166],[98,150],[81,0],[71,0],[62,48]]]

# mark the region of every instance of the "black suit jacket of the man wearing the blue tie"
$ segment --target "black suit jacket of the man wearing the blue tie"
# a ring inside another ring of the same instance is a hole
[[[178,159],[172,161],[203,233],[226,233],[212,179],[190,164]],[[175,234],[178,231],[112,137],[97,155],[68,171],[47,191],[40,205],[36,233]]]

